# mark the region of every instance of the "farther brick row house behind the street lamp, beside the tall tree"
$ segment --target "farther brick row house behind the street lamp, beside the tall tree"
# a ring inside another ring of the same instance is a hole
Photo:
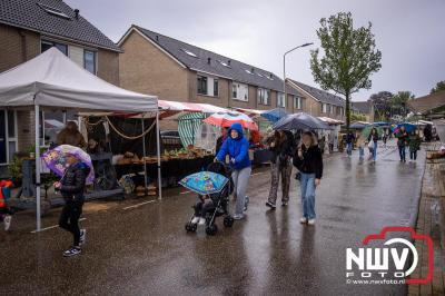
[[[346,100],[328,91],[288,79],[288,86],[297,89],[306,101],[310,102],[306,109],[308,114],[319,117],[329,117],[346,121]],[[352,106],[352,112],[356,109]]]

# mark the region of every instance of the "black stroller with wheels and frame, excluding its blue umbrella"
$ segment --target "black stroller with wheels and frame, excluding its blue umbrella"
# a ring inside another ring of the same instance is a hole
[[[205,207],[205,218],[206,219],[206,234],[214,236],[218,231],[218,226],[215,224],[217,217],[224,216],[224,226],[231,227],[234,225],[234,218],[229,215],[228,204],[229,196],[234,191],[234,181],[231,179],[231,171],[222,164],[222,162],[212,162],[207,167],[207,171],[216,172],[225,177],[226,184],[218,193],[212,193],[206,195],[208,203],[205,204],[205,199],[202,199],[202,194],[200,194],[198,201],[192,208],[195,209],[194,215],[190,217],[188,223],[186,224],[187,233],[195,233],[198,225],[192,223],[195,215],[197,211],[201,210]],[[192,188],[190,188],[192,189]],[[199,208],[197,208],[199,207]]]

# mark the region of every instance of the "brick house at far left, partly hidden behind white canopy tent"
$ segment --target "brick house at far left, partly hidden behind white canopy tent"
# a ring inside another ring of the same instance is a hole
[[[119,85],[119,47],[61,0],[0,1],[0,72],[57,47],[80,67]],[[0,109],[0,169],[33,145],[33,112]]]

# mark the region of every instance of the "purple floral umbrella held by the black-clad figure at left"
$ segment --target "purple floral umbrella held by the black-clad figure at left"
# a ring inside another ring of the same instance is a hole
[[[60,145],[51,150],[46,151],[41,158],[50,170],[52,170],[59,177],[63,177],[68,167],[68,155],[76,156],[81,162],[90,168],[90,172],[87,176],[87,184],[92,184],[95,181],[95,170],[92,168],[91,158],[80,148],[70,145]]]

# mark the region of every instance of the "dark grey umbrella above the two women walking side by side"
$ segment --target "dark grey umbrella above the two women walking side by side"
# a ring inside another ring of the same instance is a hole
[[[293,129],[333,129],[320,119],[305,114],[293,114],[283,117],[274,125],[274,129],[293,130]]]

